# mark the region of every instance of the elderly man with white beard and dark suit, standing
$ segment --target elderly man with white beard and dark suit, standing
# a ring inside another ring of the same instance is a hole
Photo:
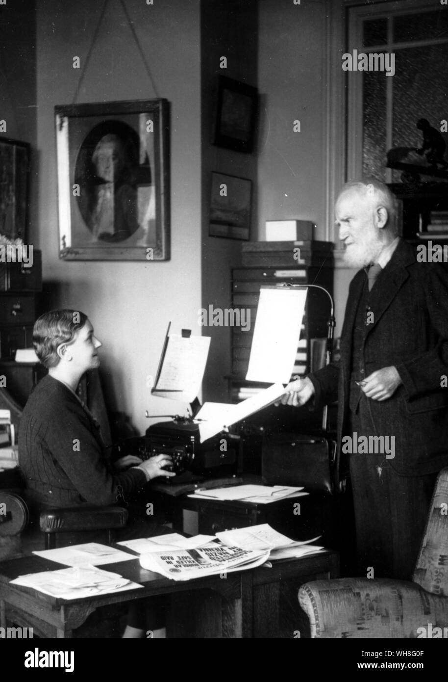
[[[361,268],[349,287],[340,361],[291,382],[282,402],[338,400],[359,575],[406,580],[436,475],[448,465],[448,275],[437,263],[417,263],[398,237],[396,203],[383,183],[348,183],[335,213],[345,263]],[[369,447],[357,448],[359,439]],[[392,439],[394,449],[384,451]]]

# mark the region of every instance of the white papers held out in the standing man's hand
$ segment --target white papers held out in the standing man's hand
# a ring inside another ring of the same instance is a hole
[[[264,407],[268,407],[283,396],[285,389],[283,384],[273,384],[264,391],[260,391],[252,398],[242,400],[236,405],[221,404],[220,402],[204,402],[196,418],[199,420],[199,436],[204,443],[212,436],[216,436],[223,428],[236,424],[237,421],[246,419],[253,413]],[[204,421],[201,421],[204,419]]]

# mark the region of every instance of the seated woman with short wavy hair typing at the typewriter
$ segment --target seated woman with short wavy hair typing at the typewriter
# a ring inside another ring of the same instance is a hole
[[[172,463],[163,454],[146,462],[128,455],[115,463],[116,469],[128,466],[127,471],[112,471],[99,426],[75,392],[84,372],[99,367],[101,342],[84,313],[53,310],[42,315],[34,325],[33,345],[48,374],[25,405],[18,451],[27,498],[35,507],[127,503],[151,479],[174,476],[163,469]],[[151,524],[142,524],[141,530],[142,537],[163,532]],[[135,537],[132,524],[127,531]],[[128,619],[125,637],[146,636],[146,627],[154,636],[163,636],[159,632],[163,630],[163,622],[159,622],[163,604],[157,599],[150,602],[154,622],[142,623],[142,613],[133,608],[133,622]]]

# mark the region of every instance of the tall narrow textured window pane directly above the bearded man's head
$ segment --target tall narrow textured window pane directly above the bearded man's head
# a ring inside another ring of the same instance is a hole
[[[364,72],[362,174],[386,179],[386,81],[382,71]]]

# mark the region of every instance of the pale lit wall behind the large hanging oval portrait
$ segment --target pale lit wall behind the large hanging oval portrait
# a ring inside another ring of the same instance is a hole
[[[101,367],[112,409],[131,415],[140,432],[144,411],[169,414],[179,404],[150,397],[168,321],[172,332],[197,328],[201,302],[199,0],[126,6],[157,93],[118,0],[111,0],[84,74],[78,103],[152,99],[171,103],[171,237],[167,262],[65,262],[58,253],[54,105],[71,104],[102,3],[37,3],[37,148],[39,243],[48,302],[84,310],[103,341]],[[51,296],[50,296],[50,292]]]

